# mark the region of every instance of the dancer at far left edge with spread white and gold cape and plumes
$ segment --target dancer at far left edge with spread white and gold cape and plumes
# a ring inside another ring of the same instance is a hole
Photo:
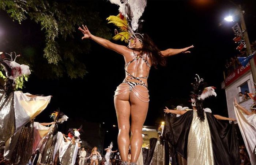
[[[16,131],[40,114],[51,98],[14,91],[15,79],[30,74],[29,66],[15,62],[19,56],[15,52],[0,55],[0,64],[6,72],[4,90],[0,89],[0,148]]]

